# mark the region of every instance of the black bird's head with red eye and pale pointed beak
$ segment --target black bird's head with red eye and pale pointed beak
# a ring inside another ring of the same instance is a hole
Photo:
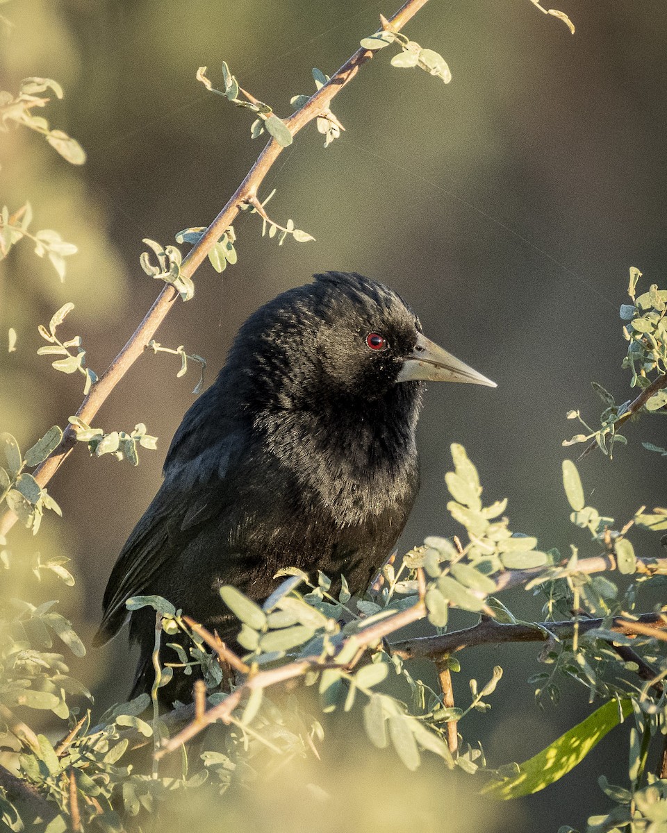
[[[354,272],[316,275],[268,302],[243,325],[233,358],[255,392],[278,397],[285,410],[377,402],[391,391],[416,396],[423,381],[495,387],[424,337],[396,292]]]

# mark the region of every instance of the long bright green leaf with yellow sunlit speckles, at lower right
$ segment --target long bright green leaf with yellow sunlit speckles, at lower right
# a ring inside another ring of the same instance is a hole
[[[504,799],[529,796],[558,781],[577,766],[610,729],[632,713],[629,700],[620,704],[610,700],[584,721],[566,731],[529,761],[519,765],[519,775],[504,781],[494,781],[482,790],[494,798]]]

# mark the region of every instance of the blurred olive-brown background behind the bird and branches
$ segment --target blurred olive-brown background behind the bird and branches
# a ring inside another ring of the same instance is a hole
[[[590,381],[620,402],[632,396],[620,369],[618,316],[629,267],[644,272],[644,289],[664,287],[667,6],[559,0],[558,7],[573,20],[574,36],[529,0],[431,0],[405,31],[442,53],[452,82],[390,67],[389,50],[364,66],[333,102],[342,137],[323,149],[311,124],[260,192],[277,188],[271,216],[281,224],[293,218],[316,242],[288,239],[278,247],[261,237],[258,217],[239,217],[238,264],[221,276],[207,262],[195,276],[193,301],[176,304],[156,336],[205,357],[208,384],[245,317],[313,272],[362,272],[397,289],[430,338],[499,384],[495,391],[443,385],[427,392],[422,490],[403,550],[425,535],[457,531],[444,486],[449,444],[457,441],[477,464],[487,501],[509,497],[513,530],[538,536],[544,549],[568,551],[573,542],[582,556],[594,551],[587,533],[569,524],[560,478],[562,459],[578,456],[581,446],[564,449],[561,441],[579,431],[565,420],[570,408],[597,420],[602,403]],[[28,241],[0,264],[2,332],[18,332],[17,351],[0,354],[2,429],[22,447],[49,426],[64,426],[82,398],[82,377],[55,372],[48,357],[36,356],[38,323],[74,302],[58,332],[81,335],[89,366],[103,372],[161,288],[138,265],[142,238],[173,243],[181,229],[208,225],[263,147],[262,138],[249,137],[251,114],[206,92],[197,68],[207,65],[215,83],[227,61],[245,89],[286,116],[290,97],[313,92],[311,68],[334,72],[375,31],[380,12],[394,7],[376,0],[3,5],[13,23],[0,48],[3,89],[15,91],[26,76],[57,79],[65,98],[44,115],[88,152],[85,166],[72,167],[36,133],[0,136],[3,202],[15,210],[30,200],[33,230],[57,229],[79,247],[64,283]],[[140,450],[133,469],[112,456],[91,460],[79,447],[49,487],[63,521],[48,517],[36,539],[13,531],[15,550],[68,556],[77,579],[73,588],[55,579],[36,586],[27,571],[13,595],[60,598],[59,610],[87,644],[113,561],[153,497],[173,431],[193,402],[198,368],[177,379],[179,367],[177,357],[147,353],[94,421],[105,431],[143,421],[159,437],[157,452]],[[664,458],[639,445],[664,445],[660,425],[629,426],[631,447],[617,446],[613,462],[596,452],[579,466],[584,488],[594,491],[589,501],[603,514],[624,521],[638,506],[664,505]],[[657,553],[656,536],[635,540],[645,555]],[[539,599],[524,591],[504,601],[518,616],[541,615]],[[489,646],[459,655],[455,695],[464,705],[469,676],[486,681],[494,664],[504,667],[494,710],[461,727],[466,741],[483,742],[489,765],[524,760],[589,713],[574,682],[557,708],[534,706],[525,679],[540,670],[538,651]],[[123,700],[133,674],[125,637],[73,662],[73,671],[93,687],[96,708]],[[433,679],[426,666],[417,671]],[[464,794],[466,811],[479,802],[470,795],[476,783],[452,793],[439,766],[409,773],[394,766],[391,752],[375,756],[373,766],[362,763],[369,745],[360,737],[355,746],[359,725],[337,717],[331,728],[349,755],[336,753],[328,776],[365,772],[376,785],[384,771],[402,785],[401,795],[419,796],[434,829],[438,820],[454,823],[452,802]],[[595,779],[599,771],[610,781],[621,777],[625,743],[616,730],[547,791],[511,806],[476,805],[480,826],[582,826],[607,806]]]

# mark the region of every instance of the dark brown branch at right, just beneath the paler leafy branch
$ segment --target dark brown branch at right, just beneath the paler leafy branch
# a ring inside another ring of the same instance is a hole
[[[579,621],[579,634],[605,627],[604,621],[604,619]],[[501,625],[493,619],[484,619],[478,625],[464,628],[462,631],[395,642],[391,646],[391,652],[404,660],[412,660],[418,656],[438,660],[454,651],[479,645],[496,645],[500,642],[544,642],[549,639],[550,635],[558,636],[559,639],[567,639],[574,635],[574,626],[574,621],[570,620]],[[667,628],[664,616],[657,613],[644,613],[636,621],[617,616],[611,626],[606,627],[605,630],[626,635],[641,634],[667,639],[667,636],[659,630],[660,628]]]

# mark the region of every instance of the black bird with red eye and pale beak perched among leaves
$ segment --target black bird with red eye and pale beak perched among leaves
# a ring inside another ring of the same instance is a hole
[[[173,437],[93,644],[123,626],[130,596],[148,594],[233,642],[238,623],[220,586],[261,601],[283,566],[343,573],[364,591],[419,489],[422,380],[495,387],[429,342],[401,297],[367,277],[316,275],[254,312]],[[137,696],[153,683],[152,610],[130,614],[130,638],[141,650]],[[187,698],[188,679],[172,700]]]

